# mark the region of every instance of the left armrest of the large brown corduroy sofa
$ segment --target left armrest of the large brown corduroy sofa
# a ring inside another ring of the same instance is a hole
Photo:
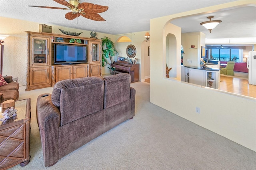
[[[52,103],[51,94],[39,95],[36,103],[36,117],[40,130],[44,166],[54,164],[58,156],[58,128],[60,127],[60,111]]]

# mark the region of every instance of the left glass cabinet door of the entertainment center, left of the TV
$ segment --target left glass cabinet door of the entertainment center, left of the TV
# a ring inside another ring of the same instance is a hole
[[[46,65],[48,63],[48,38],[31,38],[30,40],[31,52],[31,62],[30,64],[42,64]]]

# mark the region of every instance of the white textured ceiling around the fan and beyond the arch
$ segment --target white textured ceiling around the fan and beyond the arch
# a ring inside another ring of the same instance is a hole
[[[100,13],[106,21],[97,22],[82,16],[67,20],[67,10],[28,7],[33,5],[65,8],[53,0],[0,0],[0,16],[117,35],[148,31],[152,18],[232,1],[235,0],[80,0],[80,3],[89,2],[109,7],[106,12]],[[256,37],[255,9],[255,6],[243,7],[201,14],[173,20],[172,23],[180,26],[182,32],[203,32],[206,38]],[[212,33],[199,24],[207,21],[206,17],[210,15],[216,20],[222,20]]]

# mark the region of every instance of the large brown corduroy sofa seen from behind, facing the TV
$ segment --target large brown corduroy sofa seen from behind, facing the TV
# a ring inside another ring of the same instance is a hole
[[[135,89],[130,75],[86,77],[57,82],[52,95],[37,99],[44,166],[135,115]]]

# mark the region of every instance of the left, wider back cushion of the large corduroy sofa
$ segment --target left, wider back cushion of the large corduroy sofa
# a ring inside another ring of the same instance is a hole
[[[67,79],[52,90],[52,103],[60,108],[60,125],[103,109],[104,81],[101,77]]]

